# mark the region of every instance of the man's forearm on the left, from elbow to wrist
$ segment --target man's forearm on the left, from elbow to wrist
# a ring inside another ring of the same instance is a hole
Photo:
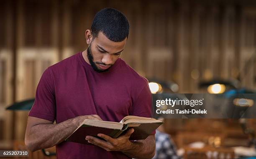
[[[31,151],[52,147],[61,143],[77,129],[77,121],[69,119],[59,124],[38,124],[26,132],[25,143]]]

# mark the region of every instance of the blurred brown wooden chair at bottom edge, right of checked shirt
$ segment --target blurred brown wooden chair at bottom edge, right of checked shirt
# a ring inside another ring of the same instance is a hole
[[[234,159],[235,152],[227,148],[184,148],[184,159]]]

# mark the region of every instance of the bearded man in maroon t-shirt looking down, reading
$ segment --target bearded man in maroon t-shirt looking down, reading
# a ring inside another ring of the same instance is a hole
[[[148,81],[119,58],[129,23],[118,10],[105,8],[86,30],[87,50],[44,71],[28,115],[25,144],[31,151],[56,145],[57,159],[149,159],[154,133],[129,141],[133,129],[113,139],[98,134],[85,140],[95,146],[64,141],[84,119],[120,121],[127,115],[151,117]],[[53,124],[54,120],[56,124]]]

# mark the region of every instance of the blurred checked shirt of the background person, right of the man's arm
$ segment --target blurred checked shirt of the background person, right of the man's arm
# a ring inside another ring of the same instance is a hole
[[[168,134],[156,131],[156,154],[153,159],[181,159]]]

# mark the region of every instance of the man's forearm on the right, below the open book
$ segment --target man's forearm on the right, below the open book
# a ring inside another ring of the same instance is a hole
[[[148,137],[152,138],[152,135]],[[123,153],[136,159],[151,159],[155,155],[155,150],[155,140],[145,139],[131,142],[131,148],[123,151]]]

